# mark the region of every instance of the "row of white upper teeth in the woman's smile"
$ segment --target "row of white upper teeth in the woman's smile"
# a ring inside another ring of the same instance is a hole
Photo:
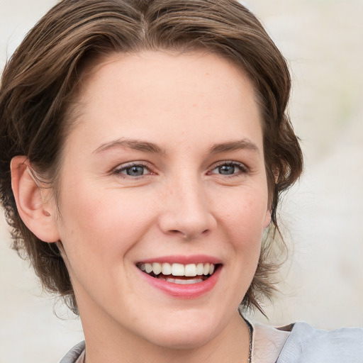
[[[152,264],[145,263],[140,264],[139,268],[142,271],[150,274],[153,272],[155,275],[164,274],[164,275],[173,275],[173,276],[186,276],[186,277],[194,277],[201,275],[213,274],[214,272],[214,264],[206,263],[206,264],[169,264],[164,263],[160,264],[158,262],[153,262]]]

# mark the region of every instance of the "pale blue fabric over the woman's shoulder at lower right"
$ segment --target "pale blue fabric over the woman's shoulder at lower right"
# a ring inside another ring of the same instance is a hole
[[[295,323],[277,363],[363,363],[363,329],[315,329]]]

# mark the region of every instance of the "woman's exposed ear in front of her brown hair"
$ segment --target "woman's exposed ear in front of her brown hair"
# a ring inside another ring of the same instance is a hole
[[[60,235],[52,190],[36,179],[27,157],[13,157],[10,167],[11,187],[21,219],[40,240],[57,242]]]

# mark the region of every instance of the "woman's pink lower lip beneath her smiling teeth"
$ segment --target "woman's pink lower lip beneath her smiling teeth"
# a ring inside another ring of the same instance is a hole
[[[174,296],[177,298],[198,298],[207,294],[213,289],[218,281],[221,269],[222,267],[219,266],[211,277],[208,277],[208,279],[202,282],[185,285],[174,284],[173,282],[160,280],[155,277],[151,277],[148,274],[145,274],[145,272],[142,272],[140,269],[139,271],[140,274],[142,274],[143,278],[147,281],[147,283],[156,287],[157,289],[164,291],[164,293],[168,294],[169,296]]]

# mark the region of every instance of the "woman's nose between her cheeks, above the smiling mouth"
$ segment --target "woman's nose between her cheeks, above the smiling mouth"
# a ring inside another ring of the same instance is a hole
[[[193,240],[211,233],[217,223],[201,181],[186,179],[171,183],[164,191],[159,224],[167,235]]]

